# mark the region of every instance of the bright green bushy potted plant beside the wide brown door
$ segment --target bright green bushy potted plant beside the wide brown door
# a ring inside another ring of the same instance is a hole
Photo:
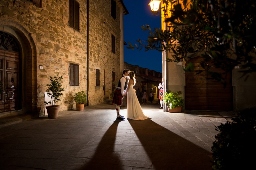
[[[177,91],[176,93],[168,92],[164,93],[163,102],[167,103],[168,109],[170,113],[180,113],[182,106],[184,106],[184,99],[181,95],[181,91]]]

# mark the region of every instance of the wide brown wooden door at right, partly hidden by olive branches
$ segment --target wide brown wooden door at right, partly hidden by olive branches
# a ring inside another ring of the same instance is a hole
[[[200,68],[203,57],[195,57],[189,62],[194,65],[195,71]],[[211,67],[211,70],[222,73],[220,68]],[[224,88],[219,81],[213,80],[211,75],[202,72],[186,72],[185,108],[186,110],[233,110],[232,73],[226,74],[227,85]]]

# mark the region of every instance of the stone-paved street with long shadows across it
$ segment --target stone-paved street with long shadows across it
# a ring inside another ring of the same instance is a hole
[[[100,104],[3,126],[0,169],[211,169],[215,128],[234,114],[141,106],[150,118],[116,120],[115,105]]]

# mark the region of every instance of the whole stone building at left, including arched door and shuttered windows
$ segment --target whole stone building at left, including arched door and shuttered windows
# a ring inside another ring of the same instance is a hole
[[[1,0],[0,112],[44,115],[46,84],[57,73],[64,88],[60,111],[104,103],[124,69],[122,0]]]

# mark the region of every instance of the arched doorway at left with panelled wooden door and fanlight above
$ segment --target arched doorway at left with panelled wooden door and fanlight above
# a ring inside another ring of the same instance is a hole
[[[20,110],[20,52],[16,40],[0,31],[0,112]]]

